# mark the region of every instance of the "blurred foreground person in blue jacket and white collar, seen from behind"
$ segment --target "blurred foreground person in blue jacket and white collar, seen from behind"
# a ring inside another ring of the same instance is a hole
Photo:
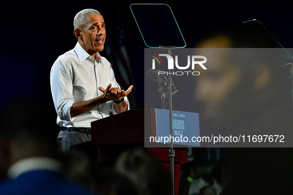
[[[90,195],[63,177],[54,111],[35,98],[14,98],[0,111],[1,195]]]

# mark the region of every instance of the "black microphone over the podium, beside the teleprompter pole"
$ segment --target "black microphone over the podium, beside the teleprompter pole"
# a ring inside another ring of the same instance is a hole
[[[149,69],[148,75],[153,79],[154,81],[157,81],[159,83],[159,86],[167,91],[169,91],[169,85],[168,85],[168,78],[166,74],[159,74],[159,71],[161,70],[154,70]],[[171,84],[172,87],[172,95],[174,95],[178,90],[175,88],[174,83]]]

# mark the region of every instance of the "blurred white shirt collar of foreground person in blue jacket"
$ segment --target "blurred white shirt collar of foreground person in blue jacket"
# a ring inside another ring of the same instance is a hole
[[[9,169],[7,176],[10,179],[34,170],[50,170],[59,172],[61,163],[48,157],[30,157],[17,161]]]

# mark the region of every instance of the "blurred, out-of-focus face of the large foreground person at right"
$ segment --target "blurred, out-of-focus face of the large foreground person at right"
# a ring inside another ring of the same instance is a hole
[[[206,40],[198,48],[219,48],[208,50],[210,66],[197,77],[195,91],[196,98],[204,104],[204,118],[215,119],[231,106],[232,95],[241,80],[241,70],[229,59],[226,53],[228,50],[220,49],[229,48],[228,39],[221,37]]]

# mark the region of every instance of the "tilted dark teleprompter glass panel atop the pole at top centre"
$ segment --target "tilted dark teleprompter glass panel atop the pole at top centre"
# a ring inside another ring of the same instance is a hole
[[[169,5],[131,4],[130,9],[147,47],[186,46]]]

